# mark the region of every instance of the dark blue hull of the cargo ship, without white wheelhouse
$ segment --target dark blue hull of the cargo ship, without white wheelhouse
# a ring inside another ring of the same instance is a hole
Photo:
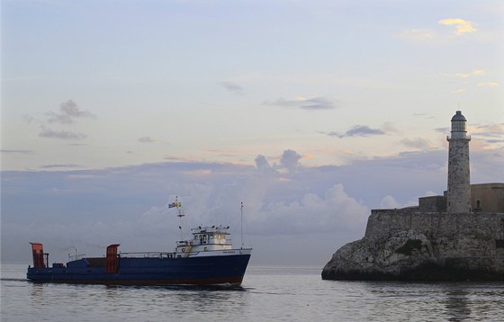
[[[67,263],[67,267],[61,265],[51,268],[28,268],[26,277],[32,282],[239,285],[249,259],[250,254],[186,258],[119,258],[117,272],[106,273],[101,258],[83,258]]]

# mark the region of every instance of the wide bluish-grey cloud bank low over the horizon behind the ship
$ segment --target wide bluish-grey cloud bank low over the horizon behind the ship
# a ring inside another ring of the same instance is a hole
[[[504,153],[497,152],[472,152],[473,182],[504,181],[495,169]],[[101,255],[104,248],[96,246],[116,242],[123,251],[159,250],[180,238],[176,213],[164,207],[178,195],[186,230],[225,224],[237,242],[243,201],[255,263],[323,265],[338,246],[363,237],[370,209],[410,204],[425,192],[446,189],[446,150],[314,167],[299,164],[301,155],[286,149],[280,165],[259,155],[256,165],[170,161],[3,172],[2,259],[28,263],[25,243],[35,239],[55,261],[67,258],[58,247],[70,245],[88,255]],[[296,171],[275,170],[291,166]],[[311,257],[299,256],[300,247]]]

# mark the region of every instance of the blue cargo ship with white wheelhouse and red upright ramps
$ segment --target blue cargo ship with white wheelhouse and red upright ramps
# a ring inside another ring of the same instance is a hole
[[[170,204],[177,207],[180,203]],[[179,212],[179,217],[184,216]],[[181,227],[179,227],[181,228]],[[234,248],[229,227],[191,229],[192,238],[176,242],[173,252],[118,253],[119,244],[107,246],[103,257],[82,257],[49,267],[49,254],[40,243],[30,243],[32,282],[103,283],[130,285],[240,285],[252,248]]]

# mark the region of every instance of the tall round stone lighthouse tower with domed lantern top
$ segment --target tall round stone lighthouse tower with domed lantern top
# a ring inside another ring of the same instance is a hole
[[[469,141],[471,136],[465,130],[462,112],[457,111],[452,118],[451,136],[448,150],[448,191],[446,210],[448,213],[471,212],[471,183],[469,174]]]

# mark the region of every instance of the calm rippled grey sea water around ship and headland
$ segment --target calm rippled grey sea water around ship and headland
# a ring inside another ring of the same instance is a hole
[[[322,281],[248,267],[241,288],[35,284],[3,264],[2,321],[502,321],[504,283]]]

